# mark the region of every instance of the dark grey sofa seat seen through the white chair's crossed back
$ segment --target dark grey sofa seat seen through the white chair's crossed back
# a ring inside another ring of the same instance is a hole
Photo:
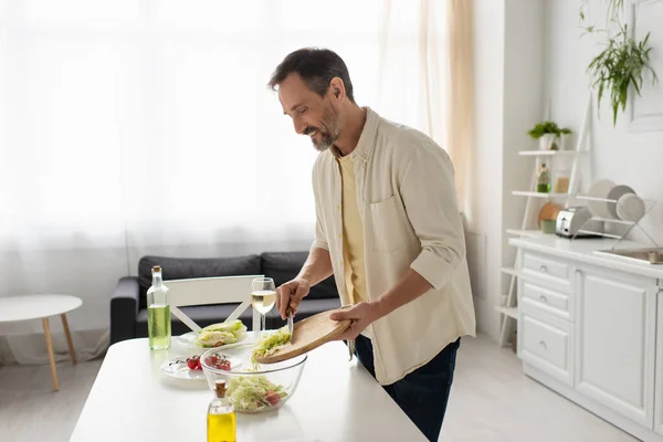
[[[238,307],[239,304],[218,304],[218,305],[196,305],[181,307],[185,315],[189,316],[201,328],[208,325],[222,323]],[[170,315],[171,335],[179,336],[191,332],[177,316]],[[250,306],[240,315],[239,318],[249,330],[253,325],[253,308]],[[269,324],[267,324],[269,327]],[[143,308],[136,316],[136,337],[147,337],[147,308]]]

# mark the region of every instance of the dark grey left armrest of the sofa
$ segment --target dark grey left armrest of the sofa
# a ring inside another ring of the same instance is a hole
[[[138,277],[119,278],[110,297],[110,344],[136,337],[139,296]]]

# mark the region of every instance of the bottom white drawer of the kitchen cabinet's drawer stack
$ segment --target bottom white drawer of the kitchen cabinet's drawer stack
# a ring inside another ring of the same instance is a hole
[[[572,386],[571,324],[564,319],[555,319],[557,320],[539,319],[529,314],[520,315],[518,324],[520,358]]]

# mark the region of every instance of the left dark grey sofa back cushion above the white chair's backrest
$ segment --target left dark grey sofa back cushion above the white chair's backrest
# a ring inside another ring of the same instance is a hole
[[[147,307],[146,294],[151,285],[151,267],[161,266],[164,281],[192,277],[261,275],[259,255],[233,257],[170,257],[143,256],[138,262],[140,282],[139,307]]]

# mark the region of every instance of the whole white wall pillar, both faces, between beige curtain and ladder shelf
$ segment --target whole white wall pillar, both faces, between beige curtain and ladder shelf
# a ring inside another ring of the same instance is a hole
[[[474,274],[485,273],[473,277],[482,281],[473,285],[477,328],[493,339],[499,334],[495,306],[509,282],[499,269],[513,265],[514,259],[504,230],[519,228],[525,209],[525,200],[511,192],[526,189],[533,170],[517,151],[528,148],[526,131],[544,110],[543,11],[543,0],[474,2],[475,152],[467,223],[471,232],[485,238],[485,261],[469,260]]]

